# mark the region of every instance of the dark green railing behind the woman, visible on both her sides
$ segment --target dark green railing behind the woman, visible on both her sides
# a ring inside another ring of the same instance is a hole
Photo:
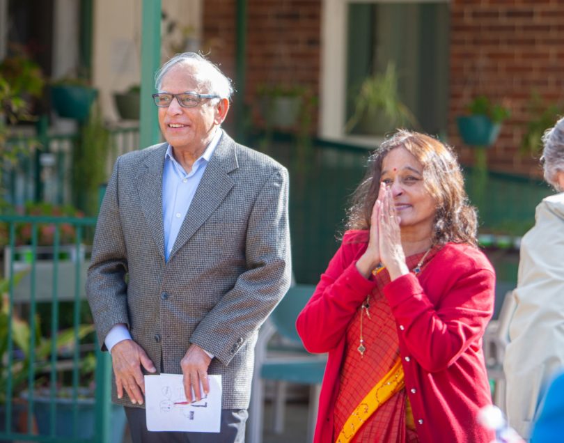
[[[290,171],[290,229],[297,281],[317,283],[338,248],[345,210],[366,172],[370,150],[321,139],[304,140],[283,134],[256,137],[253,147],[276,158]],[[524,235],[534,224],[535,206],[551,189],[540,180],[489,173],[484,196],[476,196],[471,168],[464,170],[470,200],[480,201],[480,232]],[[514,256],[495,252],[496,270],[504,281],[516,283]],[[515,255],[515,254],[514,254]],[[518,254],[517,254],[518,255]],[[508,283],[508,284],[510,284]]]

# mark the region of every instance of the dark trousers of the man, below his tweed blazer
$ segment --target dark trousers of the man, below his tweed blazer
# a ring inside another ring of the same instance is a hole
[[[244,443],[246,409],[221,410],[219,433],[151,432],[147,430],[145,408],[124,407],[133,443]]]

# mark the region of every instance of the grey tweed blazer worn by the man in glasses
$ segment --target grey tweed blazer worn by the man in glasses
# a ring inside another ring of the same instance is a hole
[[[195,343],[215,356],[208,372],[222,375],[222,407],[244,409],[258,329],[290,285],[288,171],[224,132],[165,262],[166,148],[114,165],[86,281],[98,338],[125,323],[157,373],[182,373]],[[114,402],[132,406],[112,387]]]

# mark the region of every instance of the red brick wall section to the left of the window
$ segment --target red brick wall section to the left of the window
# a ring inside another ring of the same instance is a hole
[[[256,89],[261,84],[301,85],[318,95],[320,15],[320,0],[247,0],[244,100],[256,123],[262,120],[256,100]],[[212,49],[210,59],[221,63],[233,78],[235,1],[206,0],[203,20],[203,40]],[[314,110],[315,121],[317,114]]]

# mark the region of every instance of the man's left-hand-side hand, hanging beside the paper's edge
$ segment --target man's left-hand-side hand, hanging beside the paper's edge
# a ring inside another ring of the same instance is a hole
[[[123,397],[123,390],[127,392],[133,404],[143,404],[145,394],[145,379],[141,372],[141,365],[149,372],[155,372],[146,352],[133,340],[122,340],[111,348],[111,364],[116,374],[118,398]]]

